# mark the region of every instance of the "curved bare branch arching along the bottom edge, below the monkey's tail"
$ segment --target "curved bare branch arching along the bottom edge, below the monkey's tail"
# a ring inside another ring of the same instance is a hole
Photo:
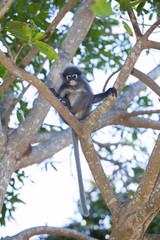
[[[40,234],[50,234],[56,236],[65,236],[69,238],[79,239],[79,240],[98,240],[97,238],[85,236],[82,233],[79,233],[75,230],[67,228],[58,228],[58,227],[48,227],[40,226],[26,229],[15,236],[3,238],[3,240],[28,240],[29,238],[40,235]]]

